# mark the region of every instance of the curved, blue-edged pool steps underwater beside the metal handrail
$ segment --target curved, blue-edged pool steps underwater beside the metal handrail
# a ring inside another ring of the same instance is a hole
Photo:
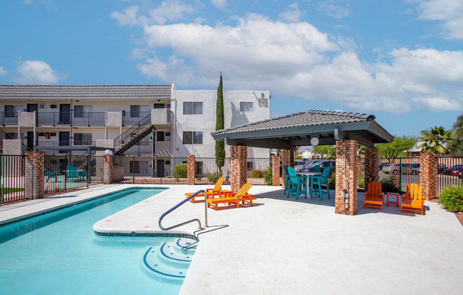
[[[159,247],[149,247],[143,255],[143,268],[149,274],[164,279],[185,279],[195,248],[185,246],[194,240],[179,238],[173,242],[162,243]]]

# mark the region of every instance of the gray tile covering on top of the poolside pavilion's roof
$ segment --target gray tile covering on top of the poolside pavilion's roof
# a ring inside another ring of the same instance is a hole
[[[257,121],[243,126],[236,126],[213,132],[213,135],[251,132],[258,130],[276,130],[303,126],[317,126],[336,123],[373,121],[376,117],[366,113],[343,113],[341,111],[301,111],[286,116]]]

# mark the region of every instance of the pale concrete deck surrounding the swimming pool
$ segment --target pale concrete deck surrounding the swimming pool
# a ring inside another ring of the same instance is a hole
[[[184,193],[210,186],[114,185],[0,207],[0,223],[126,187],[168,187],[94,224],[102,232],[158,232],[160,214]],[[227,187],[224,187],[227,189]],[[459,294],[463,227],[453,213],[425,202],[425,216],[363,209],[334,214],[332,199],[287,199],[279,187],[254,186],[255,206],[209,209],[180,294]],[[164,226],[200,218],[203,203],[165,217]],[[193,233],[196,224],[176,230]]]

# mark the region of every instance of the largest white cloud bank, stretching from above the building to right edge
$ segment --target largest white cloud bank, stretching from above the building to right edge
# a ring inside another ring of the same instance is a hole
[[[407,113],[463,108],[463,51],[397,48],[381,59],[359,59],[354,41],[332,37],[305,22],[272,21],[248,13],[236,24],[143,26],[146,48],[134,50],[142,74],[178,87],[269,89],[349,106],[356,111]],[[168,57],[156,52],[173,53]],[[160,50],[158,50],[160,49]]]

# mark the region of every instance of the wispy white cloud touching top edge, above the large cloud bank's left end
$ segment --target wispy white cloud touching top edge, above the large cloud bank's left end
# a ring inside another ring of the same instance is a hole
[[[120,25],[148,25],[164,24],[167,21],[178,21],[185,13],[192,13],[192,6],[183,4],[178,0],[163,1],[156,9],[142,9],[147,11],[147,15],[139,14],[140,6],[129,6],[123,12],[113,11],[111,17],[116,19]]]

